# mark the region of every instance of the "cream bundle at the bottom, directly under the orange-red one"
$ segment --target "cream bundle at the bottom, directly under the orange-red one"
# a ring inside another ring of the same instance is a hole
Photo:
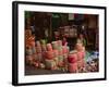
[[[46,59],[45,65],[46,65],[46,69],[48,69],[48,70],[56,70],[57,69],[56,62],[53,60]]]

